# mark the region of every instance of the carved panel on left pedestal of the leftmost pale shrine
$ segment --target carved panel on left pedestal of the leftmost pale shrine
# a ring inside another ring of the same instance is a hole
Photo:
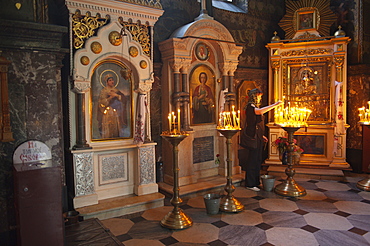
[[[76,172],[76,196],[95,193],[92,153],[73,154],[73,157]]]

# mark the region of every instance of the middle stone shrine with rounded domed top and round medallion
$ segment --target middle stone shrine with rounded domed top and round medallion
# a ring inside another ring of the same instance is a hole
[[[200,54],[201,47],[208,54]],[[226,146],[223,137],[217,134],[216,124],[220,107],[236,105],[234,72],[242,47],[235,43],[230,32],[221,23],[209,16],[203,16],[177,29],[168,40],[159,43],[159,49],[163,60],[162,122],[167,122],[169,112],[180,109],[181,129],[190,133],[180,145],[180,186],[196,183],[202,178],[224,176]],[[199,78],[201,71],[198,70],[202,67],[208,74],[207,79],[214,76],[210,83],[214,92],[214,112],[213,120],[199,123],[192,118],[193,96],[196,94],[193,80]],[[226,98],[220,98],[222,90],[228,91]],[[168,128],[168,124],[164,123],[163,130]],[[171,146],[163,142],[166,183],[173,182],[170,153]],[[221,156],[220,163],[215,161],[217,154]],[[233,172],[238,173],[240,169],[235,166]]]

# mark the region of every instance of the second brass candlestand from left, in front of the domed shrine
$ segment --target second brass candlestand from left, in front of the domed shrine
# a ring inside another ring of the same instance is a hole
[[[232,193],[235,191],[235,186],[233,185],[231,174],[232,174],[232,159],[231,159],[231,138],[239,130],[226,130],[226,129],[217,129],[219,133],[226,137],[226,146],[227,146],[227,183],[224,190],[227,192],[227,195],[224,196],[220,201],[220,210],[223,212],[240,212],[244,209],[244,205],[241,204]]]

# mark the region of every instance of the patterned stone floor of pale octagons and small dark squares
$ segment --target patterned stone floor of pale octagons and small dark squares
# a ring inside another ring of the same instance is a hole
[[[236,187],[233,195],[244,204],[239,213],[206,213],[202,196],[181,206],[193,220],[184,230],[169,230],[159,222],[173,207],[103,220],[123,245],[370,245],[370,192],[357,181],[299,179],[307,195],[282,197],[274,192]],[[283,179],[275,181],[279,184]],[[181,194],[181,188],[180,188]]]

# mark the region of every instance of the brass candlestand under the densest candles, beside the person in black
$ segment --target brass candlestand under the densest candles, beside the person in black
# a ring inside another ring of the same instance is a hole
[[[282,196],[289,196],[289,197],[298,197],[298,196],[305,196],[306,190],[302,186],[298,185],[293,176],[295,174],[295,170],[293,168],[293,151],[294,151],[294,143],[293,143],[293,135],[300,127],[282,127],[288,133],[288,142],[289,146],[287,147],[288,151],[288,167],[285,169],[285,174],[288,178],[281,184],[275,187],[275,193],[282,195]]]

